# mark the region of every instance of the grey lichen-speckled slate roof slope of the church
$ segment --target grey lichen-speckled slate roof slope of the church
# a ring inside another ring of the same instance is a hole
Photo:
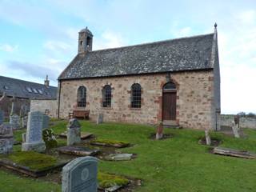
[[[212,69],[213,45],[214,34],[204,34],[89,51],[84,56],[78,54],[58,79]]]

